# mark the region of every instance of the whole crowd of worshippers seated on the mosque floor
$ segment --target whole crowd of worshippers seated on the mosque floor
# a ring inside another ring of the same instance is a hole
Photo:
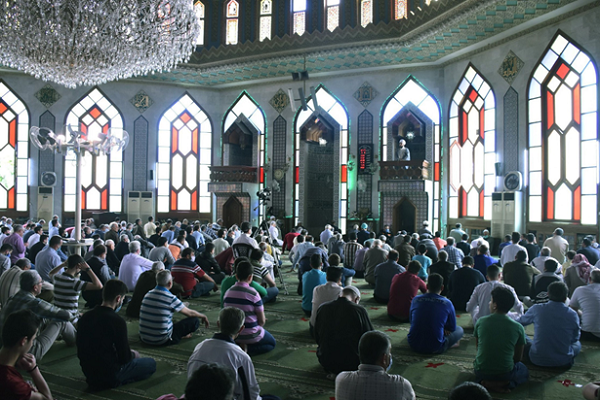
[[[597,243],[586,237],[581,249],[570,251],[560,228],[541,249],[534,235],[514,232],[495,259],[489,232],[469,242],[460,224],[445,239],[426,223],[417,233],[397,235],[389,226],[377,235],[362,224],[344,241],[333,224],[315,240],[302,226],[283,236],[274,219],[239,228],[225,228],[221,220],[155,224],[152,217],[143,225],[96,227],[88,219],[82,232],[93,245],[83,256],[67,256],[63,239],[73,228],[63,229],[57,217],[47,234],[45,221],[18,225],[2,218],[0,224],[0,393],[9,399],[52,398],[37,363],[57,340],[76,347],[90,390],[148,379],[156,362],[130,348],[121,307],[139,318],[143,343],[176,345],[201,325],[209,327],[208,318],[182,300],[219,288],[219,333],[191,354],[185,398],[278,399],[260,394],[251,357],[276,347],[264,310],[279,294],[275,278],[286,251],[318,362],[335,380],[338,400],[415,398],[410,382],[387,373],[390,339],[373,329],[353,278],[374,289],[392,321],[410,324],[408,344],[421,354],[459,347],[464,331],[456,312],[471,315],[477,383],[453,389],[451,399],[509,392],[528,380],[522,360],[568,368],[580,339],[600,341],[600,265],[592,265]],[[173,322],[176,312],[185,318]],[[529,324],[536,328],[533,338],[525,334]],[[204,382],[214,383],[210,396],[198,391]],[[598,385],[587,385],[584,396],[596,398]]]

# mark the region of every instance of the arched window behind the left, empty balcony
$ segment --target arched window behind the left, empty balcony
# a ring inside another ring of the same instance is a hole
[[[256,146],[256,158],[252,160],[252,166],[258,167],[258,183],[260,189],[263,189],[267,185],[265,179],[265,151],[266,151],[266,129],[267,125],[265,122],[265,115],[263,110],[260,108],[258,103],[254,101],[246,91],[236,99],[229,110],[225,113],[223,119],[223,133],[236,122],[240,121],[243,117],[244,122],[250,123],[256,130],[258,137],[252,138],[252,147]],[[252,151],[254,153],[254,151]],[[228,160],[229,165],[232,165],[231,159]],[[258,208],[258,219],[262,221],[264,216],[264,206]]]

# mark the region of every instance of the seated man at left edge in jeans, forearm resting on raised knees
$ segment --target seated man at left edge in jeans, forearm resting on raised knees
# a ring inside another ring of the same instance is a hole
[[[50,350],[59,335],[68,346],[73,346],[75,327],[70,322],[73,315],[67,310],[36,298],[42,291],[42,277],[33,270],[23,271],[19,282],[21,290],[11,297],[0,311],[0,327],[6,325],[10,314],[19,310],[31,310],[42,319],[40,333],[33,339],[33,345],[29,350],[38,361]]]

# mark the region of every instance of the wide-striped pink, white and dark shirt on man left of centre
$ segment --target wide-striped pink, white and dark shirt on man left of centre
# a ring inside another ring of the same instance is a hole
[[[246,282],[236,282],[223,299],[223,307],[239,308],[246,314],[244,330],[237,340],[240,343],[258,343],[265,335],[265,330],[258,324],[257,312],[263,312],[260,295]]]

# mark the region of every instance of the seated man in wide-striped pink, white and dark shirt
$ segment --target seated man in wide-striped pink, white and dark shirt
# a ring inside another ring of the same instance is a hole
[[[223,298],[224,307],[239,308],[246,314],[245,327],[239,334],[237,343],[247,347],[251,356],[268,353],[276,345],[273,335],[263,328],[267,319],[258,292],[250,287],[252,272],[252,264],[247,261],[240,262],[235,274],[238,281]]]

